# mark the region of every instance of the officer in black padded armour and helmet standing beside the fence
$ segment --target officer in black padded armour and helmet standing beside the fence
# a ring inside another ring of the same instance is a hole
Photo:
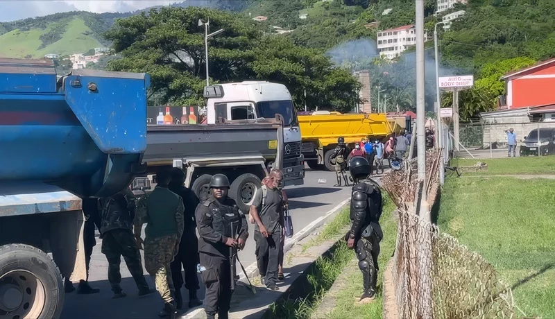
[[[377,257],[379,241],[382,240],[382,192],[373,180],[368,178],[370,165],[364,157],[352,157],[349,171],[355,184],[352,187],[350,220],[352,226],[345,235],[348,248],[355,248],[359,268],[363,275],[364,293],[361,300],[373,299],[376,295]]]

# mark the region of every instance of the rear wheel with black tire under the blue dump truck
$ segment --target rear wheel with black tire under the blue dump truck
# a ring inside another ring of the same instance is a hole
[[[0,317],[60,318],[62,275],[42,250],[23,243],[0,246]]]

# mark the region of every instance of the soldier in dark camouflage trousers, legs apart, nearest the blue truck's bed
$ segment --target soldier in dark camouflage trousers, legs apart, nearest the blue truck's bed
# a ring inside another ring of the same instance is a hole
[[[108,259],[108,281],[114,292],[114,299],[123,298],[126,293],[121,289],[119,264],[121,256],[126,261],[129,272],[139,288],[139,296],[148,295],[154,289],[148,287],[143,275],[141,255],[133,237],[133,218],[135,218],[135,196],[126,187],[120,193],[101,199],[101,239],[102,253]]]

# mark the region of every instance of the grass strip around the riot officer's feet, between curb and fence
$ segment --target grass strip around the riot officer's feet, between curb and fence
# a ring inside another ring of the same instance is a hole
[[[330,313],[330,318],[382,318],[382,273],[387,260],[395,248],[397,234],[397,221],[393,218],[393,202],[384,194],[384,214],[380,219],[384,239],[382,239],[379,255],[379,265],[382,266],[378,275],[379,296],[375,302],[354,307],[354,298],[359,298],[362,293],[362,275],[355,271],[348,277],[348,288],[339,291],[336,298],[336,308]],[[343,230],[350,224],[349,209],[342,209],[334,220],[326,225],[322,232],[303,246],[303,250],[330,239],[338,242],[330,250],[329,257],[318,257],[305,273],[307,279],[304,283],[302,298],[289,298],[272,304],[263,318],[310,318],[311,313],[318,307],[326,292],[331,288],[335,279],[343,272],[349,261],[355,259],[355,252],[349,250],[345,241],[341,241]]]

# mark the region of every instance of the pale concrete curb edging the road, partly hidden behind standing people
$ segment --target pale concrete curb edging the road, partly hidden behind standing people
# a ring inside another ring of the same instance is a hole
[[[330,211],[325,213],[323,216],[321,216],[319,218],[316,218],[315,221],[313,221],[312,223],[309,223],[309,225],[307,225],[305,228],[303,228],[299,232],[296,232],[296,234],[294,234],[291,238],[285,239],[284,255],[287,252],[289,252],[289,250],[291,250],[291,248],[293,248],[293,246],[296,245],[296,243],[298,243],[299,241],[302,241],[302,239],[305,239],[307,236],[310,235],[311,232],[316,230],[316,228],[321,227],[323,224],[325,224],[327,221],[329,221],[331,218],[333,218],[336,215],[336,213],[339,212],[350,201],[350,199],[351,198],[349,197],[349,198],[343,200],[338,205],[336,205],[335,207],[330,209]],[[257,275],[259,275],[256,263],[250,264],[250,266],[246,267],[245,270],[246,270],[246,273],[247,273],[249,278],[253,278],[253,277],[256,277]],[[244,273],[241,273],[241,275],[239,275],[239,280],[241,280],[242,282],[246,282],[246,278],[245,278]],[[282,294],[283,293],[281,293],[280,296]],[[204,308],[202,306],[200,306],[200,307],[201,308],[194,309],[194,310],[192,310],[188,313],[183,314],[182,316],[180,316],[178,318],[180,318],[180,319],[196,318],[196,316],[199,313],[204,313]]]

